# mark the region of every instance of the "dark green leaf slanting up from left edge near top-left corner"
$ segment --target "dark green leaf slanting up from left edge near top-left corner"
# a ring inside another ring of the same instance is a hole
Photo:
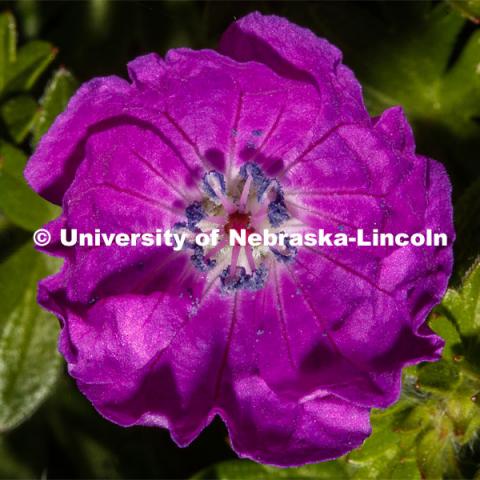
[[[30,90],[57,54],[48,43],[39,40],[27,43],[17,52],[16,61],[10,65],[5,82],[5,93]]]

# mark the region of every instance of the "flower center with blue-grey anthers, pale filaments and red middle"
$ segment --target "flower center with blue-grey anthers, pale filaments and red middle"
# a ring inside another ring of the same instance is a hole
[[[270,262],[290,261],[296,254],[296,249],[288,244],[282,252],[248,244],[253,233],[271,229],[277,233],[290,218],[279,182],[266,177],[258,165],[246,163],[228,185],[220,172],[208,172],[202,188],[205,197],[189,205],[185,210],[187,221],[175,226],[190,236],[187,245],[193,250],[194,266],[207,275],[219,277],[226,293],[263,288]],[[221,235],[215,246],[200,247],[195,243],[198,233],[214,229]],[[232,231],[243,234],[247,244],[231,245]]]

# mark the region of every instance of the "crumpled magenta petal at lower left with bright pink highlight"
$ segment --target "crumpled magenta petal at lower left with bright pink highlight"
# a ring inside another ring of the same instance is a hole
[[[69,319],[78,351],[69,371],[108,419],[167,427],[186,445],[211,421],[232,300],[215,295],[201,307],[187,295],[100,300]]]

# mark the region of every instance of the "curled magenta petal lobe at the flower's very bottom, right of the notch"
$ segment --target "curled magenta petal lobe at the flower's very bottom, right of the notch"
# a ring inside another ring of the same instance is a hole
[[[236,383],[223,408],[238,455],[280,467],[337,458],[371,433],[368,409],[331,395],[284,400],[259,377]]]

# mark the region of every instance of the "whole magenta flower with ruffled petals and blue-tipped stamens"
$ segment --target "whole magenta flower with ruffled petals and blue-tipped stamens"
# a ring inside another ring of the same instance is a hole
[[[219,415],[242,457],[299,465],[369,435],[405,365],[439,358],[425,324],[451,245],[213,249],[74,247],[80,232],[441,231],[450,182],[415,153],[400,108],[370,118],[341,53],[258,13],[219,51],[171,50],[128,66],[131,83],[80,88],[26,178],[61,204],[39,287],[60,351],[95,408],[188,445]]]

